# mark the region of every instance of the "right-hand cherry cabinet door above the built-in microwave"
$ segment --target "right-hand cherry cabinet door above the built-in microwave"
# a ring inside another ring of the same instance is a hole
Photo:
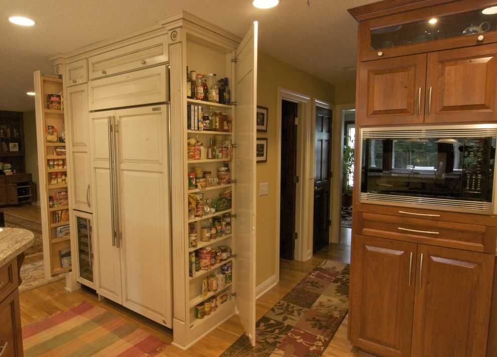
[[[497,44],[429,53],[425,122],[497,120],[496,57]]]

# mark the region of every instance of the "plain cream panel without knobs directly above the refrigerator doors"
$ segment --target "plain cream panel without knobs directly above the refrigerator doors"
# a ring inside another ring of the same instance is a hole
[[[88,109],[110,109],[166,102],[166,66],[90,81]]]

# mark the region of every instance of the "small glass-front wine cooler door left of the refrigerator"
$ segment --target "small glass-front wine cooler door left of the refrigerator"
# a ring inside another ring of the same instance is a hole
[[[94,257],[93,242],[91,236],[91,215],[84,212],[75,212],[74,219],[76,223],[76,239],[78,252],[77,280],[81,284],[93,287]]]

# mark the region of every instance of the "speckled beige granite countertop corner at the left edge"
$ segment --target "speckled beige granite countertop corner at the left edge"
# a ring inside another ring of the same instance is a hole
[[[0,228],[0,267],[33,244],[34,234],[27,229]]]

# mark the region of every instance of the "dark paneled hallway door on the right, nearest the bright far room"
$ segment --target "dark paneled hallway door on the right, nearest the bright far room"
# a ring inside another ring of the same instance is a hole
[[[314,130],[314,236],[316,253],[329,243],[331,111],[316,107]]]

